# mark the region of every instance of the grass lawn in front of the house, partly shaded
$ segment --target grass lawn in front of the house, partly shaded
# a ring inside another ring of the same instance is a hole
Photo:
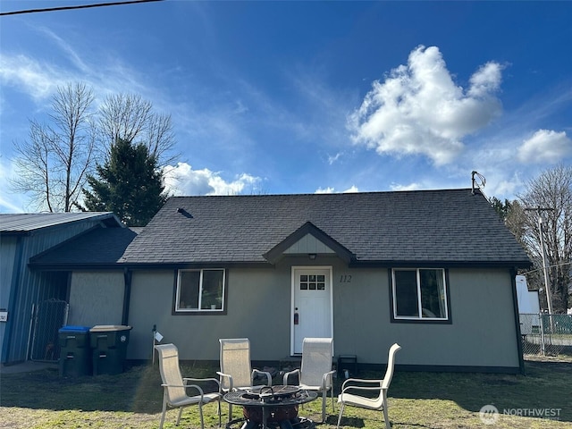
[[[183,366],[182,373],[206,377],[213,376],[216,369]],[[60,378],[57,371],[48,369],[3,374],[0,382],[3,429],[152,429],[159,425],[163,392],[156,367],[133,366],[119,375],[79,378]],[[396,429],[569,428],[571,386],[571,361],[527,361],[526,375],[397,372],[389,392],[390,420]],[[327,421],[316,423],[317,428],[335,428],[337,413],[332,413],[331,402],[328,404]],[[479,416],[486,405],[499,409],[495,425],[485,425]],[[227,410],[223,404],[223,423],[228,418]],[[198,428],[196,411],[187,408],[179,427]],[[205,411],[206,427],[216,427],[215,405],[207,405]],[[551,418],[537,416],[541,413]],[[536,416],[530,416],[533,414]],[[319,422],[320,400],[301,408],[299,415]],[[240,408],[234,408],[234,416],[240,416]],[[346,428],[384,427],[383,413],[347,408],[344,416],[342,425]],[[164,428],[176,427],[175,419],[176,411],[169,411]]]

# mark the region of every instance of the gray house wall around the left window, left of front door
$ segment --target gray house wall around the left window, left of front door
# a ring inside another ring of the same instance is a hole
[[[219,338],[248,337],[252,356],[275,360],[290,354],[290,272],[231,269],[226,315],[172,315],[174,272],[136,272],[130,299],[128,358],[151,357],[151,330],[174,342],[181,358],[217,360]],[[272,323],[269,323],[271,321]]]

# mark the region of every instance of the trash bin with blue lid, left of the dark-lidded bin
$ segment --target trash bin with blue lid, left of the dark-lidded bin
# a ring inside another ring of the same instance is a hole
[[[89,326],[63,326],[58,331],[60,376],[91,375]]]

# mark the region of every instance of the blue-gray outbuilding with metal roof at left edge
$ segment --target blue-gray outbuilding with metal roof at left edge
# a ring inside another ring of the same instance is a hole
[[[0,214],[2,364],[54,360],[67,314],[68,272],[32,272],[29,258],[86,231],[123,229],[112,213]]]

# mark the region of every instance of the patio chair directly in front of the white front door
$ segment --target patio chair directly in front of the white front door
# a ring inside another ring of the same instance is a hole
[[[302,342],[302,365],[284,374],[283,383],[288,384],[290,375],[298,374],[300,389],[322,393],[322,421],[325,421],[327,393],[330,391],[333,406],[333,358],[332,338],[305,338]]]

